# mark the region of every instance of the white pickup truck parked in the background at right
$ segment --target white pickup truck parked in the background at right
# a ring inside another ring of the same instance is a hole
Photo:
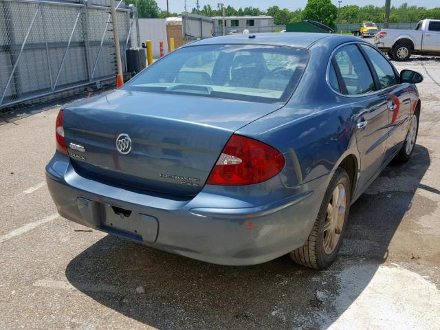
[[[395,61],[406,61],[411,54],[440,55],[440,20],[423,19],[415,30],[382,29],[374,43]]]

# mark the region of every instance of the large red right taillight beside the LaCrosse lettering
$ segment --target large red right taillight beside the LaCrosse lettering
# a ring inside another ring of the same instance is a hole
[[[241,135],[232,135],[212,168],[207,184],[242,186],[274,177],[284,167],[276,148]]]

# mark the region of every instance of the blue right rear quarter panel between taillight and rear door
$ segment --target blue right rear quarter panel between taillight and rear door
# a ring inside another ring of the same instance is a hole
[[[328,39],[311,47],[309,65],[286,106],[237,132],[283,153],[286,164],[281,179],[288,188],[335,170],[347,155],[355,155],[360,162],[354,131],[357,118],[347,98],[331,91],[326,81],[334,47],[335,42]]]

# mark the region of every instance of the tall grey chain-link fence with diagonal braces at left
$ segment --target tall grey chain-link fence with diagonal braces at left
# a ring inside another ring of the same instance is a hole
[[[115,78],[109,2],[0,0],[0,109]],[[135,8],[117,1],[122,67]]]

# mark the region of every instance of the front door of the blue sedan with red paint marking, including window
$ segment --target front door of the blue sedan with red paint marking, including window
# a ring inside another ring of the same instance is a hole
[[[388,160],[401,147],[408,131],[411,99],[408,84],[399,84],[395,69],[382,53],[369,45],[361,45],[369,58],[377,89],[384,96],[388,106],[388,142],[384,160]]]

